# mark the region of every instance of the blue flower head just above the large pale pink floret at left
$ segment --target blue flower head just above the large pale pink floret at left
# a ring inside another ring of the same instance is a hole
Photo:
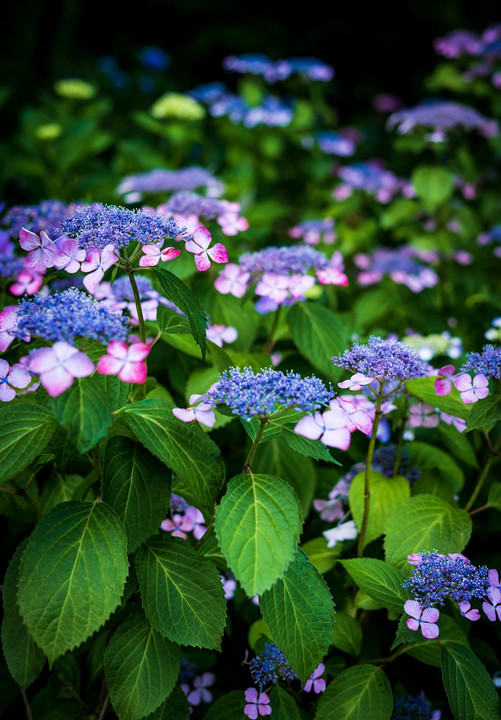
[[[77,288],[21,300],[16,320],[19,337],[35,335],[71,344],[76,338],[85,337],[104,345],[112,340],[126,340],[129,333],[127,317]]]

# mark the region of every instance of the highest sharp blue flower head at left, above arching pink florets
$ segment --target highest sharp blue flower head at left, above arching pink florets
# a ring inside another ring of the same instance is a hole
[[[176,238],[183,230],[161,215],[114,205],[77,208],[75,214],[57,228],[60,235],[76,238],[85,250],[104,248],[109,244],[122,248],[131,242],[150,245],[165,238]]]

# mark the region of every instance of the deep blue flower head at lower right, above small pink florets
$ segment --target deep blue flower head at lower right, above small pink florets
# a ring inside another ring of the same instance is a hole
[[[488,572],[486,565],[477,567],[463,555],[425,552],[402,587],[410,590],[423,607],[443,605],[448,598],[459,604],[484,598],[490,585]]]

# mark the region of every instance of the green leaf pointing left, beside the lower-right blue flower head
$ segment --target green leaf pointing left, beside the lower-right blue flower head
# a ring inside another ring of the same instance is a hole
[[[409,595],[402,587],[406,576],[401,570],[376,558],[353,558],[339,562],[369,597],[392,612],[402,612]]]

